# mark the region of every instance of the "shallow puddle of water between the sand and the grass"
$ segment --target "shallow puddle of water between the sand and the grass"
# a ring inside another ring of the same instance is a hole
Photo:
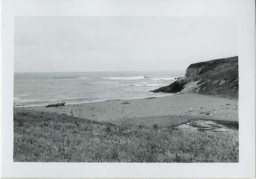
[[[239,129],[238,122],[193,119],[177,126],[179,129],[211,132],[233,132]]]

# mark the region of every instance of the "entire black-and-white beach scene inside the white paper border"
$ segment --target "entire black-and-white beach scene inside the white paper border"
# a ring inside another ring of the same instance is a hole
[[[14,22],[14,162],[239,162],[233,18]]]

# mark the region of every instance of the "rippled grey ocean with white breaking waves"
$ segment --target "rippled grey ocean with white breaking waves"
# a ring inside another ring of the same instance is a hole
[[[14,106],[42,106],[160,97],[153,93],[184,71],[14,73]]]

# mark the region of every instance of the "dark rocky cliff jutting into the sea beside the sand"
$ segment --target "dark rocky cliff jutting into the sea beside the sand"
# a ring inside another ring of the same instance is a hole
[[[238,98],[238,57],[191,64],[184,77],[152,92],[199,93]]]

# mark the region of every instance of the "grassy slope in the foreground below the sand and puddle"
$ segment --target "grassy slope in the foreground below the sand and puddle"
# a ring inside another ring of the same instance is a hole
[[[114,125],[14,109],[14,162],[238,162],[238,132]]]

